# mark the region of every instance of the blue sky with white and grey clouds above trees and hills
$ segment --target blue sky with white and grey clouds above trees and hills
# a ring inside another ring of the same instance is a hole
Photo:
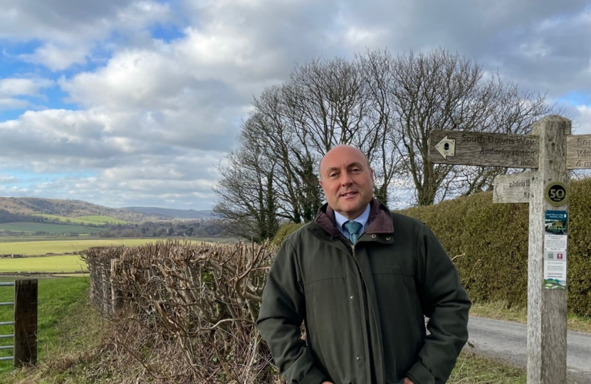
[[[591,134],[580,0],[2,0],[0,196],[211,209],[253,97],[312,58],[445,48]]]

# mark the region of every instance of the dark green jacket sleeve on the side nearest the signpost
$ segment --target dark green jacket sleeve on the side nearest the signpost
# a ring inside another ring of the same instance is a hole
[[[427,225],[422,225],[418,251],[417,290],[430,334],[407,375],[415,384],[445,383],[468,341],[471,302],[454,263]]]

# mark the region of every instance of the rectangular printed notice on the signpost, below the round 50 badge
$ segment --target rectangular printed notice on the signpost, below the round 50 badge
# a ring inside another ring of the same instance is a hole
[[[544,288],[566,289],[568,213],[546,210],[544,233]]]

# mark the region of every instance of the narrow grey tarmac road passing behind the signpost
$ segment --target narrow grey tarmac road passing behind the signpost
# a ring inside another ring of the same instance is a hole
[[[527,365],[528,329],[525,324],[471,316],[468,323],[469,342],[464,350]],[[591,334],[568,331],[568,383],[591,384]]]

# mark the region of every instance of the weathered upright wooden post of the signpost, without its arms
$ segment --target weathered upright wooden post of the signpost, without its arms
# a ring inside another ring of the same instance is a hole
[[[565,210],[550,206],[544,187],[550,181],[569,184],[566,167],[566,135],[571,122],[548,116],[533,125],[538,136],[538,169],[531,173],[528,248],[528,383],[566,383],[566,289],[544,289],[545,210]]]

